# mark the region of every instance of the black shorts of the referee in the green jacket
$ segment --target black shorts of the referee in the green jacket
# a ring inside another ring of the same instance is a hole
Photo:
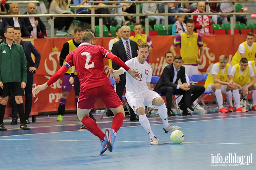
[[[21,82],[3,83],[3,89],[0,88],[0,95],[1,97],[10,96],[11,91],[14,94],[14,96],[24,95],[24,89],[21,88]]]

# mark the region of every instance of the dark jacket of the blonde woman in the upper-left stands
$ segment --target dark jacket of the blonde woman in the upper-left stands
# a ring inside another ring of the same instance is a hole
[[[28,32],[28,29],[26,28],[25,22],[23,18],[18,18],[19,24],[20,24],[20,31],[22,34],[22,37],[30,37],[31,34]],[[3,18],[3,25],[4,27],[12,26],[14,27],[13,18]]]

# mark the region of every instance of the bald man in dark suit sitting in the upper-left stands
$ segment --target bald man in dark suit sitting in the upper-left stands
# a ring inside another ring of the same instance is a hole
[[[35,14],[36,5],[34,3],[29,3],[27,6],[27,12],[24,14]],[[32,36],[37,38],[47,38],[46,27],[39,17],[28,17],[24,18],[26,28],[31,33]]]

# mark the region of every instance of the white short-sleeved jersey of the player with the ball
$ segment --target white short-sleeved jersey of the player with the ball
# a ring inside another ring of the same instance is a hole
[[[133,70],[138,70],[141,74],[141,78],[133,78],[129,73],[126,73],[126,95],[140,95],[149,91],[146,82],[151,82],[152,69],[151,66],[145,61],[144,64],[141,64],[137,58],[129,59],[125,62]],[[123,70],[123,73],[127,72],[123,67],[120,69]]]

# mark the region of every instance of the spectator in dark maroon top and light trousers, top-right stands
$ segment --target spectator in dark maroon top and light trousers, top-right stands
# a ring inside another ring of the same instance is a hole
[[[220,9],[220,3],[210,3],[209,4],[209,12],[210,13],[222,13],[222,10]],[[227,15],[212,15],[211,22],[214,22],[215,24],[218,24],[218,21],[221,24],[227,24],[228,18]]]

